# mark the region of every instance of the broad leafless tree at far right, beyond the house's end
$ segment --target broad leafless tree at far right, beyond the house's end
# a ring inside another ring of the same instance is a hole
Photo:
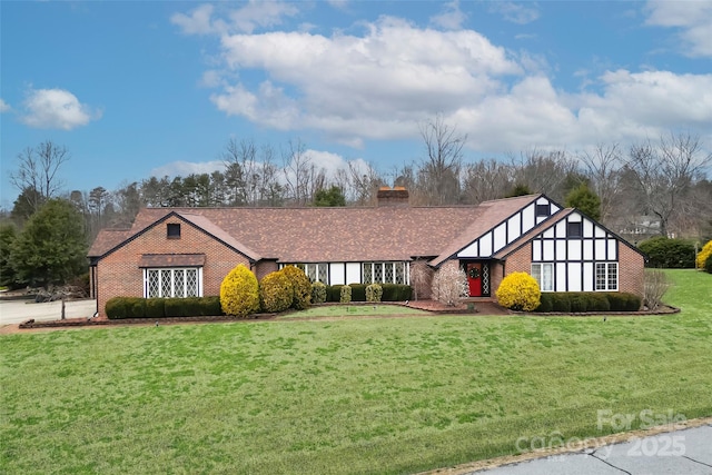
[[[690,133],[661,136],[631,147],[627,169],[641,208],[660,220],[660,234],[668,236],[674,214],[684,208],[695,180],[704,176],[712,154],[704,152],[699,137]]]

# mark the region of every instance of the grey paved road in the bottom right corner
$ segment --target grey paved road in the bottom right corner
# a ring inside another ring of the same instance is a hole
[[[469,472],[466,475],[472,474],[712,475],[712,425]]]

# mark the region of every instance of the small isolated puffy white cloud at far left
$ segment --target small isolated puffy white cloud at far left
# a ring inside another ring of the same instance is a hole
[[[23,105],[20,120],[38,129],[71,130],[101,117],[65,89],[30,89]]]

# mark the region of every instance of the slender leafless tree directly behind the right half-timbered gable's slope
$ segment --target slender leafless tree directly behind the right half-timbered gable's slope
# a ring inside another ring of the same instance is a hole
[[[591,188],[601,200],[601,220],[607,224],[621,194],[621,148],[617,144],[599,144],[591,152],[580,154],[578,159],[585,165]]]

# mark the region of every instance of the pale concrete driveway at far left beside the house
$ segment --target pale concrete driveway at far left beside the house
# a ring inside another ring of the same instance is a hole
[[[71,300],[65,304],[67,318],[91,317],[97,311],[97,300]],[[0,300],[0,325],[20,324],[29,318],[59,320],[62,315],[61,301],[36,304],[34,300]]]

